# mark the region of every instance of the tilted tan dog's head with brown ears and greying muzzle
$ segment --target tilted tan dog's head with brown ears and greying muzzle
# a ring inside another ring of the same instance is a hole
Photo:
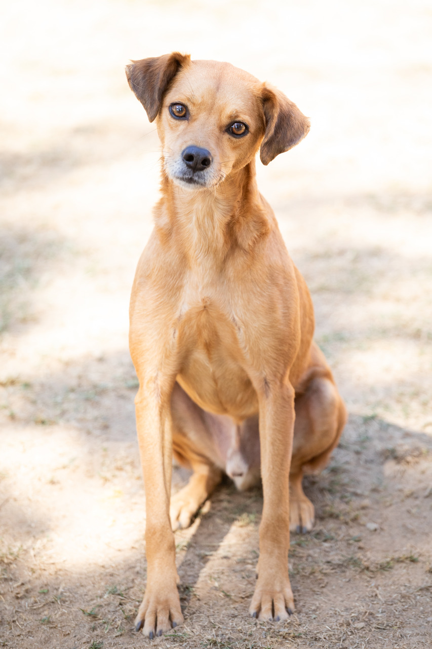
[[[130,88],[157,119],[165,173],[186,188],[211,188],[252,160],[267,165],[309,131],[282,92],[228,63],[178,52],[126,66]]]

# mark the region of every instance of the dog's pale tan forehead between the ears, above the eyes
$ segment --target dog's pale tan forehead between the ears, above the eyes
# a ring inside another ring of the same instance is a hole
[[[256,77],[230,63],[197,60],[176,75],[167,99],[217,104],[227,111],[252,110],[261,97],[262,87]]]

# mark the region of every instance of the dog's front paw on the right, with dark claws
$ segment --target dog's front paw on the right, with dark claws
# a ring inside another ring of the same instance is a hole
[[[261,579],[261,571],[249,613],[259,620],[278,622],[287,620],[294,613],[294,598],[289,577],[267,575]]]

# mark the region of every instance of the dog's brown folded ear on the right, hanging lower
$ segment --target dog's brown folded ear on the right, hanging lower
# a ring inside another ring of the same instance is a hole
[[[263,87],[265,134],[259,150],[261,162],[269,164],[280,153],[295,147],[309,132],[309,119],[279,90]]]

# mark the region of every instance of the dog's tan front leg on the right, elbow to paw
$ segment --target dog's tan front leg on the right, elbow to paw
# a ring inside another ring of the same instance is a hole
[[[263,516],[259,527],[258,582],[249,612],[283,620],[294,611],[288,576],[289,466],[293,448],[294,389],[269,384],[258,394]]]

